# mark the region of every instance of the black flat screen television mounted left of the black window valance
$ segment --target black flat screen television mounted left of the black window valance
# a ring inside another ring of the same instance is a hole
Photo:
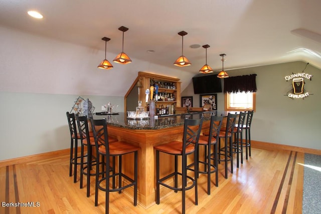
[[[222,92],[221,79],[217,75],[193,77],[194,94]]]

